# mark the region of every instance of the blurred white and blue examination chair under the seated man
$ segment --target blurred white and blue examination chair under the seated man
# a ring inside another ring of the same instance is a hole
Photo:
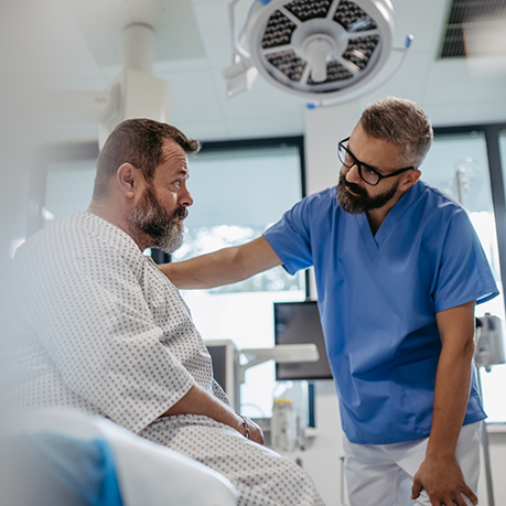
[[[0,504],[236,506],[212,469],[110,420],[44,409],[0,420]]]

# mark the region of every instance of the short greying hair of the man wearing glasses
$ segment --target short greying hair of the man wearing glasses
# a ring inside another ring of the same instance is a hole
[[[429,118],[420,106],[406,98],[387,97],[368,105],[359,123],[368,136],[401,148],[407,165],[420,165],[432,142]]]

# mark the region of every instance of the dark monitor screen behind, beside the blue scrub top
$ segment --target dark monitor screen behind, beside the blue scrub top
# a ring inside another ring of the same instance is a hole
[[[274,302],[276,344],[316,345],[320,359],[293,364],[276,364],[276,379],[332,379],[325,341],[316,301]]]

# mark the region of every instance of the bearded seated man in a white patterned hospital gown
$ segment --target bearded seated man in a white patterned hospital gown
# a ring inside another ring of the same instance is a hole
[[[222,473],[240,505],[321,505],[306,473],[230,409],[190,310],[142,254],[181,246],[193,203],[186,153],[198,149],[171,126],[123,121],[100,152],[87,212],[18,250],[20,378],[10,403],[107,417]]]

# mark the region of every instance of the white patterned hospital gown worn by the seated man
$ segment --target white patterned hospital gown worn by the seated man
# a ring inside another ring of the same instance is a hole
[[[18,408],[111,419],[227,476],[240,505],[323,504],[292,461],[207,417],[161,417],[197,384],[226,401],[177,289],[126,233],[76,213],[17,252]],[[168,498],[168,504],[170,498]]]

